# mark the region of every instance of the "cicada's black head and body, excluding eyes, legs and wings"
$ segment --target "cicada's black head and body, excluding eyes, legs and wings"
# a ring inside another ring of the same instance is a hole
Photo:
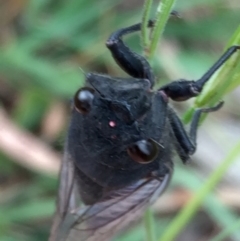
[[[165,164],[171,163],[173,137],[169,131],[168,115],[171,112],[167,98],[161,92],[149,91],[149,81],[114,80],[95,74],[87,75],[87,81],[99,81],[98,85],[104,83],[104,88],[100,90],[101,86],[99,92],[106,97],[96,94],[93,108],[87,115],[73,110],[67,150],[80,174],[82,198],[89,204],[97,201],[101,192],[104,194],[105,190],[125,187],[150,177],[153,172],[157,171],[159,176],[164,176],[169,172]],[[115,93],[106,93],[109,89]],[[122,109],[127,106],[133,109],[129,110],[131,117],[122,116]],[[147,111],[139,113],[144,106]],[[117,107],[119,112],[116,111]],[[114,121],[116,126],[109,126],[109,121]],[[146,137],[162,145],[158,156],[149,164],[134,162],[126,150],[131,144]],[[86,196],[89,198],[90,195],[91,200],[87,200]]]

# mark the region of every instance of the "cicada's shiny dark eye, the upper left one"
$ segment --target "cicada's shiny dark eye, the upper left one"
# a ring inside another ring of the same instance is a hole
[[[91,111],[93,99],[94,89],[89,87],[79,89],[74,96],[75,109],[82,114],[89,113]]]

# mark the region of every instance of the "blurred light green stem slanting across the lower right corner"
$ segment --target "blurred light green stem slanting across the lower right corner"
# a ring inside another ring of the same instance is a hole
[[[175,240],[176,236],[181,232],[184,226],[190,221],[193,215],[197,212],[201,203],[207,194],[216,186],[223,174],[229,168],[229,166],[236,160],[236,157],[240,155],[240,142],[236,144],[230,154],[220,164],[220,166],[212,173],[207,179],[202,188],[196,193],[196,195],[189,201],[185,208],[180,211],[177,217],[169,225],[166,232],[159,239],[159,241]]]

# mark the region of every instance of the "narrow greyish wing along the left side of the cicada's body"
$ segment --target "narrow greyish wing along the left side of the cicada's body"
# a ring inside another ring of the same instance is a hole
[[[49,241],[66,240],[65,234],[69,233],[69,228],[75,223],[72,210],[76,210],[80,205],[75,169],[68,153],[65,152],[61,164],[59,175],[59,188],[57,198],[57,208],[53,219]],[[65,238],[64,238],[65,237]]]

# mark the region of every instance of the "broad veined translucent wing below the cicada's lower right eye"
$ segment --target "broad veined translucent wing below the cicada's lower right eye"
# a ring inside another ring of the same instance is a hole
[[[112,191],[105,200],[84,206],[71,213],[67,241],[107,241],[117,231],[137,220],[168,185],[171,174],[161,180],[145,179]]]

